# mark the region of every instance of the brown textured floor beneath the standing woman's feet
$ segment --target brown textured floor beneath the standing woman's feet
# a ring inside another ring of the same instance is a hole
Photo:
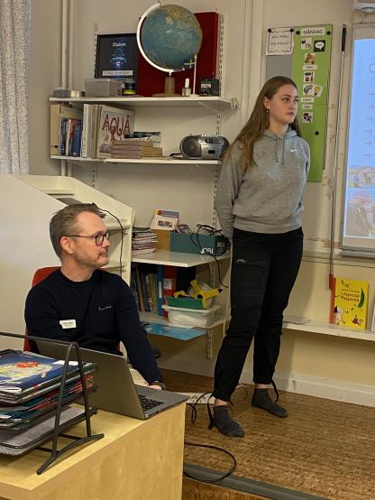
[[[172,391],[212,389],[207,377],[169,370],[163,375]],[[237,460],[237,477],[333,500],[375,500],[374,408],[280,392],[289,415],[279,419],[252,408],[251,395],[252,386],[233,394],[233,418],[242,424],[243,439],[208,430],[206,405],[199,404],[195,423],[187,408],[186,440],[229,450]],[[185,461],[222,471],[230,467],[223,454],[192,446],[185,447]],[[193,481],[185,481],[183,498],[235,498],[222,495],[219,488],[217,495],[188,495],[194,487]]]

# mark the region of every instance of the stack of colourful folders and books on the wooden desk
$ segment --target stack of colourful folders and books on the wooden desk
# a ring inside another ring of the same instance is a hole
[[[20,447],[17,438],[22,436],[27,444],[42,439],[35,428],[46,419],[51,419],[50,429],[53,430],[52,417],[58,405],[63,368],[64,361],[51,357],[13,349],[0,352],[0,453],[16,455],[26,451],[29,447]],[[83,369],[87,389],[92,389],[91,374],[96,371],[96,365],[84,363]],[[71,361],[63,387],[62,409],[68,410],[68,404],[78,399],[82,392],[78,363]],[[65,421],[65,417],[62,420]],[[45,426],[41,427],[46,431]]]

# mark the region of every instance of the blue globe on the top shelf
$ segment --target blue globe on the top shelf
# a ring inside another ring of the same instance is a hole
[[[145,59],[170,74],[193,67],[202,45],[202,28],[185,7],[156,4],[143,14],[137,40]]]

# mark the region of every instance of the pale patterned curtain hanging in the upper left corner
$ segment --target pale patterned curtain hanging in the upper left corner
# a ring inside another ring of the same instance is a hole
[[[0,0],[0,172],[28,173],[31,0]]]

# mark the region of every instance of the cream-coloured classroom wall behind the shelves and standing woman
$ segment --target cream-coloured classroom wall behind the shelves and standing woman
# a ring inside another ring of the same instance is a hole
[[[224,93],[241,102],[238,111],[222,115],[222,134],[233,139],[249,115],[250,107],[265,77],[265,36],[267,28],[295,25],[333,23],[332,67],[329,91],[328,134],[324,179],[321,183],[308,183],[306,189],[304,230],[306,256],[292,293],[288,312],[315,319],[328,319],[330,293],[328,290],[327,252],[330,235],[332,199],[334,131],[338,98],[341,57],[341,29],[348,28],[347,51],[344,59],[343,106],[340,120],[338,153],[337,207],[335,245],[339,245],[343,164],[346,138],[349,69],[351,62],[352,23],[363,15],[353,13],[352,0],[181,0],[180,5],[193,12],[217,11],[224,14]],[[98,32],[134,32],[140,15],[151,5],[149,1],[123,2],[123,0],[79,0],[75,2],[75,36],[73,87],[83,88],[84,79],[94,73],[94,30]],[[59,162],[48,159],[48,103],[47,97],[59,85],[59,2],[34,0],[30,88],[32,173],[57,172]],[[41,36],[41,33],[43,35]],[[45,34],[49,35],[48,42]],[[39,77],[39,79],[36,78]],[[215,115],[209,116],[199,109],[161,108],[136,111],[136,126],[157,126],[167,149],[177,147],[180,138],[188,133],[215,132]],[[81,180],[92,181],[93,165],[73,167]],[[174,208],[190,225],[210,222],[212,207],[212,172],[193,167],[96,166],[96,185],[99,190],[114,196],[136,210],[136,223],[147,224],[153,208]],[[47,236],[46,236],[47,237]],[[334,273],[345,277],[358,277],[370,281],[370,307],[373,306],[375,273],[371,260],[355,262],[338,259]],[[179,369],[212,374],[213,362],[205,359],[204,338],[190,343],[158,339],[163,349],[163,362]],[[215,338],[215,349],[220,333]],[[327,338],[300,332],[287,332],[279,359],[280,379],[295,376],[308,384],[297,384],[291,390],[328,394],[326,387],[351,387],[360,393],[370,386],[375,393],[375,373],[370,356],[374,342],[354,339]],[[355,369],[352,367],[355,366]],[[297,375],[296,375],[297,374]],[[251,379],[251,361],[244,372]],[[325,384],[320,384],[321,380]],[[321,386],[322,385],[322,386]],[[325,392],[326,391],[326,392]],[[363,394],[367,394],[365,390]],[[345,397],[345,396],[344,396]],[[367,397],[367,396],[366,396]],[[366,399],[366,398],[364,398]],[[364,401],[366,403],[366,401]],[[375,404],[375,403],[374,403]]]

